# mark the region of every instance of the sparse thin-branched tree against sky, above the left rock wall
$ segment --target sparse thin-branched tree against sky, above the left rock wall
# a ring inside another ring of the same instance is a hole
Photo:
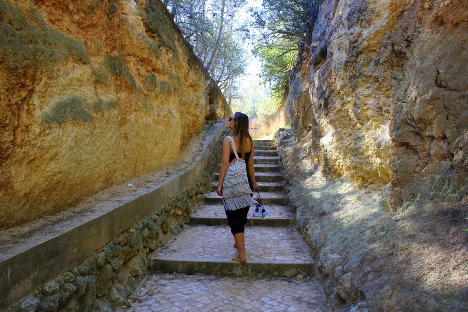
[[[244,73],[248,28],[235,16],[245,0],[163,0],[174,22],[192,45],[206,70],[226,97],[233,95],[237,77]],[[237,96],[237,94],[235,95]]]

